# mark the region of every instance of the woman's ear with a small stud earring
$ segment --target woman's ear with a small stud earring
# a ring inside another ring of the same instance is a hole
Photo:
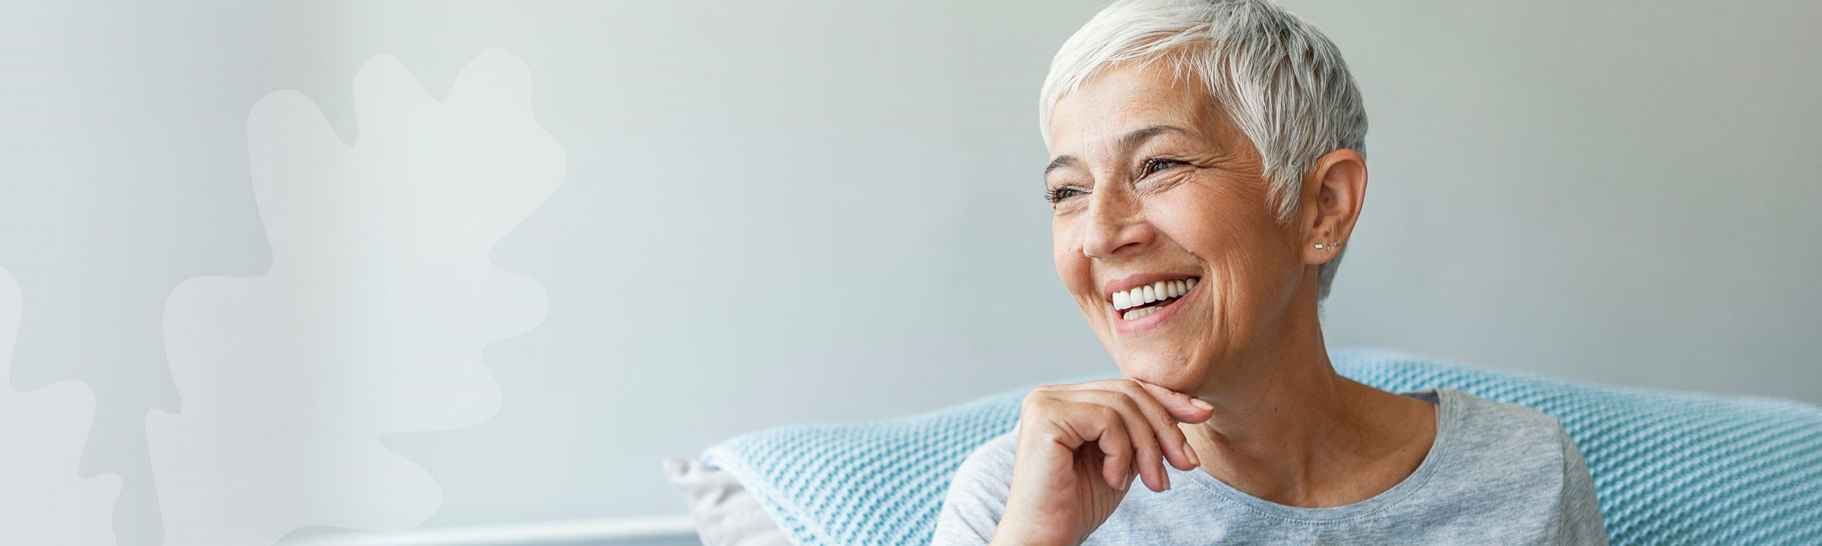
[[[1354,222],[1366,200],[1366,158],[1352,149],[1336,149],[1315,158],[1303,193],[1303,262],[1326,264],[1348,244]],[[1321,244],[1323,248],[1315,248]]]

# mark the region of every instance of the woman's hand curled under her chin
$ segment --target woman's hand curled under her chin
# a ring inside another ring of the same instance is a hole
[[[1082,544],[1126,497],[1133,473],[1164,491],[1162,460],[1179,470],[1201,466],[1177,422],[1208,420],[1210,410],[1137,379],[1031,391],[1018,413],[1013,484],[993,544]]]

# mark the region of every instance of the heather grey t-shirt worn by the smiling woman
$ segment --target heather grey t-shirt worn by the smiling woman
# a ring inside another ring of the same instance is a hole
[[[1543,411],[1439,388],[1436,440],[1403,482],[1346,506],[1297,508],[1203,470],[1170,490],[1133,482],[1084,544],[1607,544],[1587,462]],[[988,440],[955,473],[935,544],[986,544],[1006,510],[1018,431]]]

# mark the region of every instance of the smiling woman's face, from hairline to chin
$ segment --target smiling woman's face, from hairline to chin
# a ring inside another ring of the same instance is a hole
[[[1162,62],[1108,67],[1057,102],[1049,127],[1057,275],[1126,377],[1203,391],[1281,335],[1314,268],[1297,224],[1266,206],[1259,153],[1201,82],[1173,82]],[[1119,293],[1190,282],[1157,302]]]

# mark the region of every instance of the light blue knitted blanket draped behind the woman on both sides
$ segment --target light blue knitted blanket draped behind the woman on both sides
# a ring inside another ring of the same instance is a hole
[[[1616,546],[1822,544],[1822,408],[1596,386],[1372,348],[1330,360],[1387,391],[1454,388],[1554,415],[1587,459]],[[703,460],[740,479],[798,544],[922,546],[962,459],[1017,424],[1028,391],[893,420],[747,433]]]

